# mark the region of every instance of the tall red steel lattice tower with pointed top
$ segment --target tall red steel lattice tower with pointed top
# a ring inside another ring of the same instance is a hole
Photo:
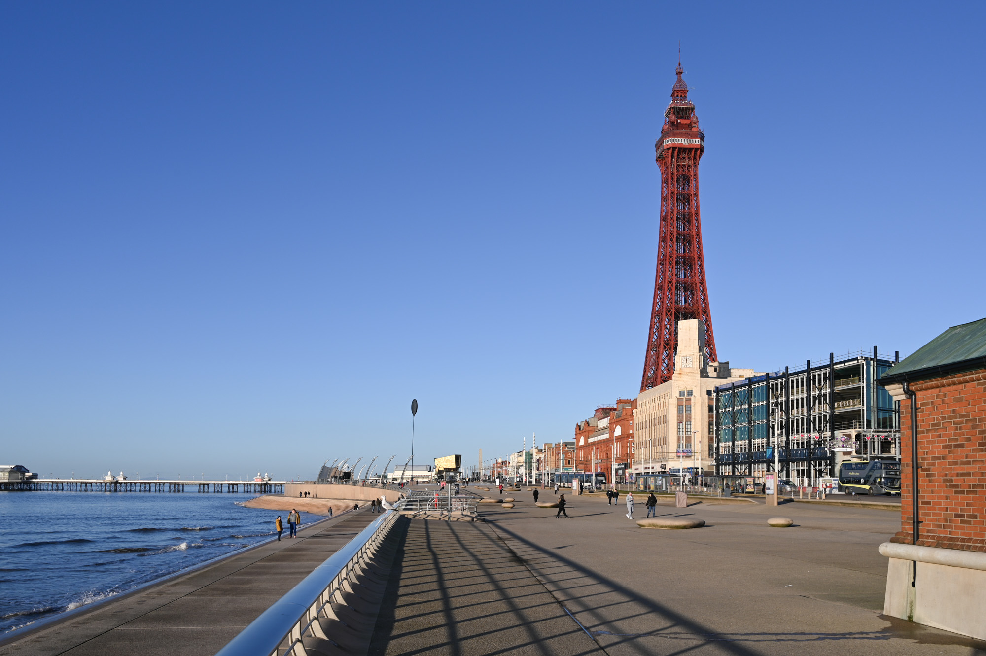
[[[705,133],[681,79],[680,61],[674,72],[677,81],[655,145],[661,167],[661,235],[641,391],[670,380],[674,373],[677,322],[682,319],[705,322],[705,356],[717,361],[698,212],[698,161],[705,152]]]

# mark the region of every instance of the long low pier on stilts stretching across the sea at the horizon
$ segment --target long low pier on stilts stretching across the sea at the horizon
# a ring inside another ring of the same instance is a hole
[[[246,492],[282,494],[287,481],[105,481],[103,479],[33,479],[0,481],[0,492]]]

